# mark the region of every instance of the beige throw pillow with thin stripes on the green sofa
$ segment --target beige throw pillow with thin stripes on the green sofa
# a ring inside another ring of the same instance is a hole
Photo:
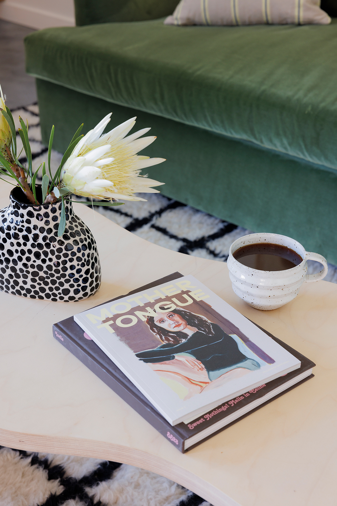
[[[167,25],[328,24],[320,0],[180,0]]]

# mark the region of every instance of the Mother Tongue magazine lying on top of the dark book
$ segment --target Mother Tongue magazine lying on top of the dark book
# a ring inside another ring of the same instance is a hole
[[[74,319],[171,425],[301,364],[193,276]]]

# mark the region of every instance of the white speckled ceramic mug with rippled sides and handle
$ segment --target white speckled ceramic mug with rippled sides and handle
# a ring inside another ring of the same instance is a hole
[[[261,271],[246,267],[234,259],[233,253],[247,244],[271,243],[281,244],[296,251],[303,261],[284,271]],[[307,260],[315,260],[323,265],[317,274],[307,274]],[[232,243],[227,260],[229,278],[234,292],[250,306],[263,311],[277,309],[292,301],[297,296],[303,282],[319,281],[327,274],[327,263],[324,257],[308,252],[302,244],[279,234],[249,234]]]

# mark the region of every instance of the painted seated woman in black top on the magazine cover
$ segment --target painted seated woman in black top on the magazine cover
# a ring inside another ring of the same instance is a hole
[[[164,374],[167,382],[170,378],[179,381],[188,391],[185,399],[266,363],[238,336],[227,334],[218,324],[186,309],[157,312],[146,323],[162,344],[136,356]],[[177,360],[183,362],[183,372]]]

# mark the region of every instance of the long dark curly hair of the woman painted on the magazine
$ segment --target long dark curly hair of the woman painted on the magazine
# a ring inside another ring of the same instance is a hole
[[[173,311],[170,311],[170,313],[181,316],[187,322],[187,325],[196,327],[206,335],[214,334],[212,325],[203,316],[196,315],[190,311],[187,311],[186,309],[181,308],[175,308]],[[179,343],[186,341],[188,338],[188,335],[185,332],[170,332],[169,330],[166,330],[166,328],[160,327],[155,323],[154,316],[148,316],[146,322],[149,325],[151,332],[153,332],[156,337],[165,344],[178,345]]]

